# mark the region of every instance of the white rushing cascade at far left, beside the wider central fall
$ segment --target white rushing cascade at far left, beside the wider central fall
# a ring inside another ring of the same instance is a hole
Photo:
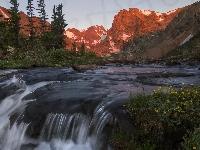
[[[17,124],[17,122],[15,122],[11,126],[9,118],[14,113],[21,114],[24,111],[26,104],[33,101],[22,101],[26,95],[53,82],[40,82],[27,86],[25,81],[13,76],[11,80],[4,83],[6,83],[6,86],[14,84],[19,89],[0,102],[0,148],[1,150],[19,150],[28,124],[23,122]]]

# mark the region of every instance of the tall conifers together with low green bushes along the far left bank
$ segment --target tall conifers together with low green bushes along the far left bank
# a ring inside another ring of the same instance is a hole
[[[9,18],[0,21],[0,68],[23,68],[29,66],[71,66],[80,63],[98,61],[92,52],[85,52],[84,43],[77,47],[72,44],[71,50],[66,50],[63,5],[54,5],[51,22],[48,23],[44,0],[27,1],[28,24],[20,22],[19,3],[10,0]],[[35,17],[35,12],[39,16]],[[0,16],[3,17],[3,16]],[[35,21],[39,20],[39,24]]]

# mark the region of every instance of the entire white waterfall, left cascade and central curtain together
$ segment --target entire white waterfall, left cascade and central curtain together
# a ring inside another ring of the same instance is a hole
[[[23,146],[30,150],[100,150],[105,142],[106,125],[114,125],[116,118],[109,112],[112,102],[102,101],[93,114],[48,113],[37,139],[29,137],[30,122],[24,122],[24,112],[35,99],[24,98],[35,90],[56,81],[26,85],[19,77],[0,83],[0,87],[14,89],[12,94],[0,100],[0,147],[1,150],[20,150]],[[14,88],[15,87],[15,88]],[[44,108],[45,109],[45,108]],[[11,116],[17,114],[13,120]],[[26,148],[24,148],[26,149]],[[107,147],[109,149],[109,147]]]

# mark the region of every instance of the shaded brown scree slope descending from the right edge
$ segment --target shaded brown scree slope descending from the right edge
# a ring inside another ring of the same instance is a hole
[[[116,56],[116,59],[137,61],[160,59],[165,55],[169,58],[186,54],[196,56],[197,53],[200,53],[198,49],[200,32],[199,8],[200,2],[186,6],[165,29],[130,40],[125,44],[119,55]],[[190,38],[192,39],[190,40]]]

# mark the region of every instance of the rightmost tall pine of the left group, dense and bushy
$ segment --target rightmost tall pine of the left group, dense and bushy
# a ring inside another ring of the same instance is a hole
[[[65,48],[65,27],[68,25],[65,23],[64,15],[62,13],[63,5],[59,4],[58,6],[54,5],[52,22],[51,22],[51,35],[52,35],[52,47],[55,49]]]

